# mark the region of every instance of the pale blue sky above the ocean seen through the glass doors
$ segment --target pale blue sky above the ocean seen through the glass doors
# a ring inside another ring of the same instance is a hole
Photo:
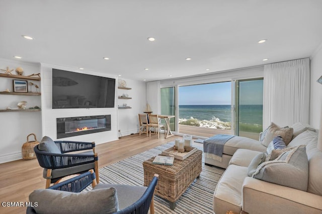
[[[240,82],[240,104],[263,104],[263,80]],[[179,105],[231,105],[231,82],[180,86]]]

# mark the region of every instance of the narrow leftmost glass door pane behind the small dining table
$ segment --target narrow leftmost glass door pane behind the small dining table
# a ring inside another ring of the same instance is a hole
[[[176,88],[161,88],[161,114],[176,115]],[[164,122],[164,121],[163,121]],[[170,119],[170,130],[176,131],[176,117]]]

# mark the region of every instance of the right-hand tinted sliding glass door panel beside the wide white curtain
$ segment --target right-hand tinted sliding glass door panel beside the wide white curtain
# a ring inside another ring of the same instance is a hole
[[[259,138],[263,130],[263,78],[235,81],[235,135]]]

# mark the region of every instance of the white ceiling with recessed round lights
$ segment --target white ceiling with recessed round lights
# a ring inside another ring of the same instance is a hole
[[[0,58],[133,80],[305,58],[322,43],[321,0],[1,0],[0,8]]]

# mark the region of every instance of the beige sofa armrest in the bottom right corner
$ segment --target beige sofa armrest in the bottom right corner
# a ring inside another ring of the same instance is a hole
[[[245,178],[242,197],[249,213],[322,212],[322,196],[252,177]]]

